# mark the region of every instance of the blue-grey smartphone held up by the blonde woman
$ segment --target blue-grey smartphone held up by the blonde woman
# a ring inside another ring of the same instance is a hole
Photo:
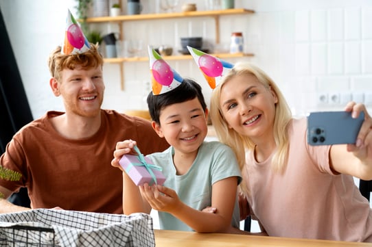
[[[307,116],[307,143],[316,145],[355,144],[364,112],[351,118],[351,112],[312,112]]]

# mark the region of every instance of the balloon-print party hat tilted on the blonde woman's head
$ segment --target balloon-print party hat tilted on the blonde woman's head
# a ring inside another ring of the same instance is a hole
[[[187,46],[187,49],[192,57],[194,57],[194,61],[198,64],[202,74],[205,79],[207,79],[207,82],[212,89],[216,88],[221,77],[233,68],[233,64],[220,60],[213,55],[209,55],[189,46]]]

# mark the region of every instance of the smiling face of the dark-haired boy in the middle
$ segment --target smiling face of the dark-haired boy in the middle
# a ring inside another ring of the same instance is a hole
[[[174,147],[175,152],[198,153],[207,135],[207,114],[198,98],[161,109],[160,125],[152,123],[156,133]]]

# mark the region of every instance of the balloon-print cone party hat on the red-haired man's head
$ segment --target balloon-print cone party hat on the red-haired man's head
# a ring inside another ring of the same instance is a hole
[[[75,21],[70,10],[67,10],[65,40],[62,44],[62,54],[84,53],[90,49],[89,41],[82,33],[80,25]]]

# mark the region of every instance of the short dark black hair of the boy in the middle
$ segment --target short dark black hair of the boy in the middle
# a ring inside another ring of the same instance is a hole
[[[160,125],[160,112],[164,107],[185,101],[191,101],[198,97],[202,109],[207,109],[204,96],[202,95],[202,87],[192,79],[183,79],[183,82],[177,88],[164,94],[154,95],[152,92],[148,94],[148,109],[153,121]]]

